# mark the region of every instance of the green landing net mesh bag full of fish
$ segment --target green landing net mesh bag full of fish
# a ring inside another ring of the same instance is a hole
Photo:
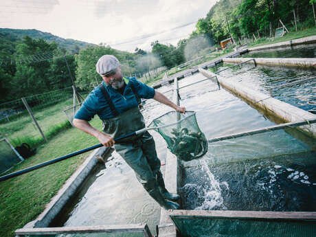
[[[208,142],[196,122],[196,113],[185,114],[170,111],[157,117],[149,127],[159,127],[157,131],[168,144],[169,150],[183,161],[203,157],[207,153]]]

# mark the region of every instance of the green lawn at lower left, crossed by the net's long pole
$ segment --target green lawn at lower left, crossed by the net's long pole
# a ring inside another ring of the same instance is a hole
[[[97,118],[92,120],[95,128],[101,129]],[[98,139],[76,128],[58,133],[49,143],[41,144],[36,155],[14,166],[10,172],[21,170],[38,163],[54,159],[76,150],[98,144]],[[72,157],[65,161],[22,174],[0,183],[0,236],[12,237],[14,231],[33,221],[45,209],[88,153]]]

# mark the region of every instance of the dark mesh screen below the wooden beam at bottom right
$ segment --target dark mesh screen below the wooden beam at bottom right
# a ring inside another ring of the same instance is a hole
[[[199,216],[171,216],[181,236],[284,236],[310,237],[315,236],[316,225],[313,221],[296,220],[254,220],[253,218],[207,218]]]

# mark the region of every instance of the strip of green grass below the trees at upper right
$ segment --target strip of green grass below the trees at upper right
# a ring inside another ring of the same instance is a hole
[[[308,29],[300,30],[298,32],[295,29],[289,29],[289,33],[284,34],[284,36],[279,38],[259,38],[257,41],[250,43],[249,47],[261,46],[261,45],[270,45],[273,43],[280,43],[284,41],[291,41],[296,38],[303,38],[308,36],[313,36],[316,34],[316,27],[311,27]]]

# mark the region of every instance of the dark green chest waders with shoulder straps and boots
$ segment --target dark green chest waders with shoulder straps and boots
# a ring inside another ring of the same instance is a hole
[[[99,87],[114,115],[114,117],[102,120],[104,133],[111,135],[115,139],[145,127],[144,117],[140,113],[138,106],[119,114],[104,85],[100,84]],[[132,84],[131,88],[136,98],[138,98]],[[137,180],[142,183],[148,194],[159,205],[167,210],[179,209],[178,203],[172,202],[179,199],[179,195],[171,194],[165,188],[160,171],[161,163],[156,153],[155,141],[148,131],[133,137],[126,137],[120,140],[120,142],[115,143],[114,148],[126,161],[128,166],[134,170]]]

